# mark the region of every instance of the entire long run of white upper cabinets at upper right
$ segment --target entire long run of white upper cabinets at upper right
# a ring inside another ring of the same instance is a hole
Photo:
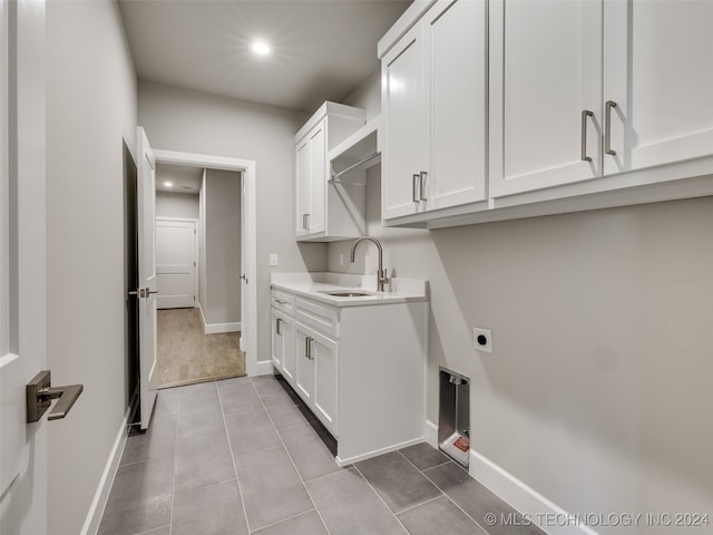
[[[414,1],[379,42],[383,220],[713,195],[711,21],[711,0]]]

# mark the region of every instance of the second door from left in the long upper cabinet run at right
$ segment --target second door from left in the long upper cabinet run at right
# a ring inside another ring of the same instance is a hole
[[[430,211],[486,198],[488,31],[485,0],[440,0],[426,17]]]

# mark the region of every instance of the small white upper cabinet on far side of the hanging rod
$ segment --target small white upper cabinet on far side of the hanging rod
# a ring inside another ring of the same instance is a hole
[[[365,111],[324,103],[295,136],[297,240],[331,241],[364,234],[364,183],[331,183],[328,152],[365,123]]]

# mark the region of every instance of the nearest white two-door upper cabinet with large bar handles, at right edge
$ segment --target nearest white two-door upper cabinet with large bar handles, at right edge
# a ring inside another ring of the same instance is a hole
[[[710,1],[491,0],[490,196],[711,155],[712,20]]]

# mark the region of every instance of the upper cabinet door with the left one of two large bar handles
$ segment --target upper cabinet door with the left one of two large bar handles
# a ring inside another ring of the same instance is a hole
[[[491,0],[489,29],[490,196],[600,176],[602,1]]]

